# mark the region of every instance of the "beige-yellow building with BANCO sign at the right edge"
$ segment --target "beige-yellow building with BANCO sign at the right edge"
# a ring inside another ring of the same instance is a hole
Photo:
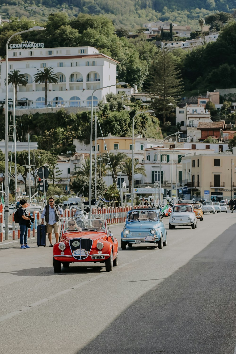
[[[194,155],[182,158],[182,176],[191,198],[222,200],[236,198],[236,155],[230,152]],[[232,183],[231,183],[232,173]],[[183,188],[182,188],[183,189]]]

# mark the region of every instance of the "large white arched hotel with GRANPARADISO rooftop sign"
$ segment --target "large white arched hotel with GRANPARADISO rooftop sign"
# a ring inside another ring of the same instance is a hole
[[[35,44],[36,45],[36,44]],[[46,107],[90,107],[93,90],[113,85],[94,93],[94,105],[105,101],[109,92],[116,93],[117,61],[99,53],[94,47],[14,48],[8,50],[8,73],[20,70],[28,81],[17,87],[18,103],[29,108],[45,107],[45,84],[36,84],[34,75],[44,67],[52,67],[58,76],[57,84],[47,84]],[[5,59],[0,60],[0,100],[5,99]],[[12,86],[8,86],[12,98]]]

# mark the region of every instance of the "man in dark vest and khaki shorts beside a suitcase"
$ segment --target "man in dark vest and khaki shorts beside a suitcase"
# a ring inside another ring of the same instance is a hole
[[[59,219],[63,215],[63,210],[55,204],[54,198],[48,199],[48,204],[45,206],[41,215],[41,224],[46,221],[46,233],[48,234],[49,246],[52,247],[52,229],[54,231],[56,242],[59,241]]]

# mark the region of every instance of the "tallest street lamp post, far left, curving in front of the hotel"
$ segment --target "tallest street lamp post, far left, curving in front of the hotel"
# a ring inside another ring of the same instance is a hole
[[[8,55],[7,55],[7,51],[8,51],[8,44],[10,42],[10,40],[18,35],[18,34],[22,34],[22,33],[26,33],[26,32],[31,32],[31,31],[41,31],[46,29],[45,27],[40,27],[40,26],[34,26],[33,28],[29,28],[25,31],[21,31],[21,32],[17,32],[14,33],[7,41],[6,44],[6,96],[5,96],[5,240],[8,240],[8,213],[9,213],[9,206],[8,206],[8,202],[9,202],[9,184],[8,184]]]

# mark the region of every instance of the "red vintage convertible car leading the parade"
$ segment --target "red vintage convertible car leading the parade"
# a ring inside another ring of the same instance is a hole
[[[106,220],[63,222],[59,242],[53,246],[54,272],[59,273],[62,265],[67,268],[75,262],[105,262],[107,272],[118,265],[118,242]]]

